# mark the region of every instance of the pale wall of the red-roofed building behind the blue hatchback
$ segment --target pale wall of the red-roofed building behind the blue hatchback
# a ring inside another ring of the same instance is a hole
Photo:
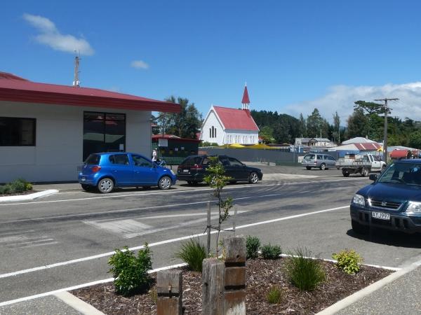
[[[77,181],[83,155],[83,112],[126,114],[126,151],[151,152],[150,111],[0,102],[0,117],[35,118],[35,146],[0,146],[0,183]]]

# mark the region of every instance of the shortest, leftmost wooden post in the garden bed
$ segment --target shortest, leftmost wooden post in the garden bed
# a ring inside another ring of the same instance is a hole
[[[182,315],[182,271],[163,270],[156,274],[157,315]]]

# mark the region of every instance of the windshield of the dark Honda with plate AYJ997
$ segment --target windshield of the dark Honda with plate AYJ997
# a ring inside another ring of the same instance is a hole
[[[378,182],[421,186],[421,165],[416,163],[392,164],[382,174]]]

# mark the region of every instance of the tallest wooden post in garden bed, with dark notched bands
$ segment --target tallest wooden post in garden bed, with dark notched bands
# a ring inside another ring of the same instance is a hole
[[[246,314],[246,239],[224,237],[224,315]]]

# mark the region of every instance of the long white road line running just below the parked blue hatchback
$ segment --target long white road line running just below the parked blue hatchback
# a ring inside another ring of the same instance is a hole
[[[301,185],[306,183],[335,183],[338,181],[361,181],[364,178],[353,178],[353,179],[331,179],[327,181],[299,181],[295,183],[276,183],[276,184],[258,184],[258,185],[241,185],[241,186],[227,186],[224,189],[242,189],[242,188],[259,188],[259,187],[266,187],[266,186],[290,186],[290,185]],[[20,204],[48,204],[48,203],[55,203],[55,202],[74,202],[74,201],[81,201],[81,200],[97,200],[97,199],[108,199],[108,198],[120,198],[120,197],[133,197],[139,195],[162,195],[162,194],[176,194],[176,193],[194,193],[196,191],[207,191],[212,190],[212,188],[202,188],[202,189],[194,189],[194,190],[175,190],[175,191],[165,191],[165,192],[142,192],[142,193],[134,193],[134,194],[112,194],[100,197],[86,197],[86,198],[74,198],[74,199],[63,199],[63,200],[46,200],[46,201],[37,201],[37,202],[16,202],[12,204],[0,204],[0,207],[4,206],[15,206]]]

